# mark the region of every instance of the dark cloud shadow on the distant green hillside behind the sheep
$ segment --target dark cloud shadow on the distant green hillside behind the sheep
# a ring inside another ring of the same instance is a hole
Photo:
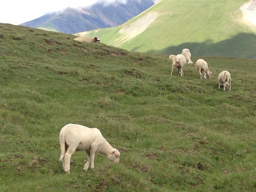
[[[170,46],[160,51],[150,50],[147,51],[147,53],[177,55],[180,54],[184,48],[190,49],[193,56],[214,55],[256,59],[256,35],[240,33],[233,38],[218,43],[213,43],[212,40],[206,40],[203,43],[187,42],[178,46]]]

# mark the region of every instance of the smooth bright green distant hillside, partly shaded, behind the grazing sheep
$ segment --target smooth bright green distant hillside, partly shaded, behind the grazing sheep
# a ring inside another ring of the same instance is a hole
[[[88,36],[98,36],[105,44],[138,52],[178,54],[180,48],[189,48],[195,56],[256,59],[256,28],[253,30],[241,22],[239,8],[246,2],[248,0],[162,0],[120,26],[93,30]],[[140,33],[152,14],[158,17]],[[139,22],[143,17],[147,19]],[[134,30],[120,33],[122,28],[130,30],[136,21]],[[130,39],[131,33],[137,36]]]

